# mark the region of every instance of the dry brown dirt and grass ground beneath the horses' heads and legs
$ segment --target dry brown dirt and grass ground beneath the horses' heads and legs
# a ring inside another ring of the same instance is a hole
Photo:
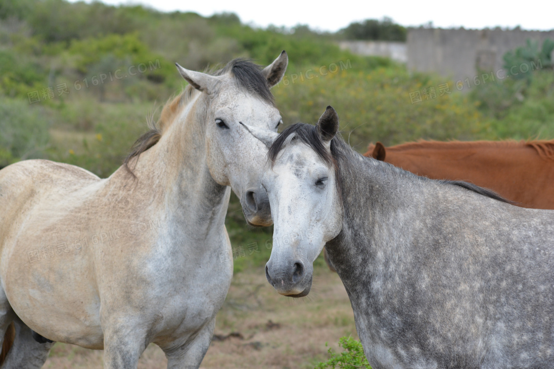
[[[201,368],[313,368],[335,351],[342,336],[356,337],[352,308],[341,280],[316,267],[312,290],[301,299],[277,294],[263,268],[235,274],[217,316],[214,339]],[[43,368],[101,368],[103,351],[56,344]],[[165,368],[162,350],[150,345],[139,369]]]

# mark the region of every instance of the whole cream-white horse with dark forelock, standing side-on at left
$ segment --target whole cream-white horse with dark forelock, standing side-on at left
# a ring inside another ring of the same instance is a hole
[[[109,178],[47,160],[0,171],[0,334],[16,326],[3,367],[43,365],[53,344],[33,335],[104,349],[105,368],[136,368],[150,342],[168,368],[200,365],[233,275],[229,186],[249,224],[271,224],[267,148],[239,123],[276,131],[269,88],[287,64],[177,65],[190,85]]]

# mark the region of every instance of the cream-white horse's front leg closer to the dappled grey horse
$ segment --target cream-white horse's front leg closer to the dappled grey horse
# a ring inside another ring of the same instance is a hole
[[[215,326],[216,318],[204,325],[192,341],[171,348],[162,347],[167,357],[167,369],[197,369],[212,342]]]

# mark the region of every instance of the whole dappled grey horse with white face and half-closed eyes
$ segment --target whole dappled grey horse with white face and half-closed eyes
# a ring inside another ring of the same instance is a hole
[[[554,367],[554,212],[365,158],[317,126],[280,136],[262,179],[274,221],[266,277],[310,291],[326,247],[373,368]]]

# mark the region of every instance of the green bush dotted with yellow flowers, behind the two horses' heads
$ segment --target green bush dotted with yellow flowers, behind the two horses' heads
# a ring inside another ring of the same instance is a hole
[[[456,91],[452,83],[450,94],[439,96],[438,86],[445,81],[438,76],[411,73],[401,65],[358,70],[355,63],[344,63],[342,70],[337,63],[336,72],[326,74],[317,66],[305,68],[304,80],[297,77],[293,83],[289,76],[288,86],[274,86],[284,122],[314,124],[331,105],[340,117],[343,138],[360,152],[376,141],[393,145],[417,139],[483,138],[478,102]],[[311,79],[306,79],[306,71]],[[411,102],[411,92],[430,87],[436,97]]]

